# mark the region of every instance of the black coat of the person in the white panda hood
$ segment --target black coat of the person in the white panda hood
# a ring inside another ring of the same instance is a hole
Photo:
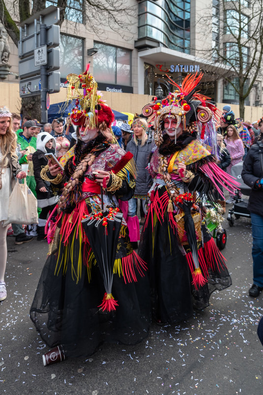
[[[48,159],[45,157],[45,153],[40,150],[35,151],[32,155],[32,162],[34,166],[34,177],[36,182],[35,192],[37,200],[51,198],[53,196],[53,191],[50,186],[50,182],[44,181],[40,176],[42,167],[48,164]],[[42,187],[46,187],[47,192],[39,191]]]

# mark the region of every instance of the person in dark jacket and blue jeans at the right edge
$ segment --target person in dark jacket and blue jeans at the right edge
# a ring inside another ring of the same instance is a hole
[[[263,291],[263,142],[253,144],[243,163],[241,173],[246,185],[251,188],[248,210],[252,224],[253,285],[250,296],[259,296]]]

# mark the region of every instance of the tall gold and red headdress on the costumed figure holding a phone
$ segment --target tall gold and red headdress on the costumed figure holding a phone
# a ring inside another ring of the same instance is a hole
[[[85,126],[95,129],[101,125],[102,129],[110,128],[114,121],[114,113],[111,108],[101,99],[98,85],[94,77],[88,72],[89,64],[82,74],[68,74],[67,103],[76,99],[75,107],[69,113],[67,125]]]

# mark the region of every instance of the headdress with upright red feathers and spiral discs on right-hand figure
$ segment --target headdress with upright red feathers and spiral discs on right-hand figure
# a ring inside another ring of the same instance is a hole
[[[162,100],[154,98],[149,104],[144,106],[142,114],[148,118],[148,122],[154,120],[154,140],[157,146],[163,142],[162,131],[160,130],[160,123],[165,117],[174,117],[177,120],[177,127],[182,122],[183,131],[193,132],[193,122],[199,122],[199,129],[201,129],[201,138],[205,135],[205,124],[214,117],[217,108],[207,102],[210,98],[199,94],[197,87],[203,73],[197,75],[188,74],[181,86],[177,85],[168,75],[167,78],[171,84],[176,87],[175,92],[170,92],[169,95]],[[201,128],[200,128],[201,126]],[[197,129],[197,128],[196,128]],[[176,130],[175,130],[176,142]]]

